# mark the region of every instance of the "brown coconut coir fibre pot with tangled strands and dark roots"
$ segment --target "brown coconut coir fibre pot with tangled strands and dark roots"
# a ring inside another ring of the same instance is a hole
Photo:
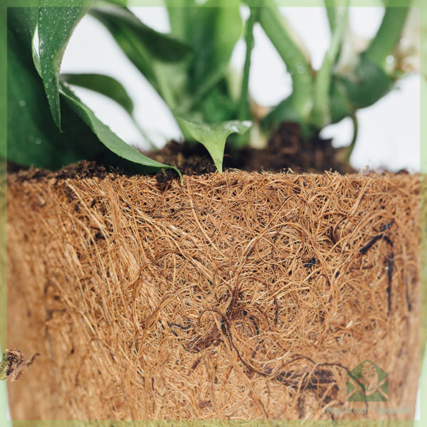
[[[8,184],[13,418],[413,419],[419,176]]]

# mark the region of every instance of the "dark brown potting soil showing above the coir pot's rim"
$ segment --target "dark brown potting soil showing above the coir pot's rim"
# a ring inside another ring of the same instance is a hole
[[[238,151],[226,145],[223,169],[240,169],[247,172],[280,172],[291,169],[293,172],[325,172],[332,170],[340,173],[354,172],[354,169],[338,159],[339,150],[332,147],[332,139],[322,139],[318,136],[303,140],[300,126],[296,123],[285,122],[270,138],[265,149],[245,147]],[[148,157],[170,164],[182,174],[201,175],[216,172],[216,167],[209,153],[202,144],[190,142],[168,142],[156,152],[145,152]],[[108,172],[116,174],[132,174],[118,167],[106,167],[97,162],[81,161],[70,164],[56,172],[47,169],[21,167],[9,162],[8,172],[14,174],[14,179],[41,180],[66,178],[103,178]],[[178,178],[173,169],[164,169],[156,174],[159,184],[165,184],[171,179]]]

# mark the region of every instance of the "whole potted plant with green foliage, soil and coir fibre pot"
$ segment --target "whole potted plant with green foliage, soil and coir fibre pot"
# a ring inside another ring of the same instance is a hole
[[[236,159],[254,139],[289,144],[290,128],[315,153],[332,150],[318,137],[332,122],[352,117],[356,134],[357,109],[404,74],[405,56],[386,58],[408,8],[386,9],[349,56],[348,5],[327,9],[332,41],[315,72],[273,2],[246,4],[243,31],[240,1],[168,0],[171,34],[123,5],[9,9],[8,159],[39,168],[8,176],[9,347],[40,354],[9,386],[13,417],[413,416],[418,176],[221,173],[229,136]],[[132,115],[116,80],[60,74],[85,13],[169,105],[187,152],[201,143],[217,172],[182,176],[177,159],[125,144],[73,93],[96,90]],[[292,73],[292,95],[267,115],[248,94],[257,22]],[[242,31],[236,96],[227,65]],[[303,166],[329,169],[307,156]],[[60,169],[79,160],[96,163]]]

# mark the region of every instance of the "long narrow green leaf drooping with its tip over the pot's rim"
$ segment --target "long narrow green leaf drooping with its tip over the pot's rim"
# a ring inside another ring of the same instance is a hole
[[[181,173],[178,169],[171,167],[167,164],[156,162],[153,159],[150,159],[147,156],[144,156],[137,149],[126,144],[125,141],[117,137],[109,127],[104,125],[87,107],[83,102],[81,102],[78,97],[65,85],[61,85],[60,94],[64,97],[65,102],[77,113],[77,115],[93,130],[95,135],[100,139],[102,144],[105,145],[110,151],[117,154],[117,156],[124,159],[130,160],[130,162],[143,164],[147,167],[154,168],[170,168],[176,170],[176,172],[181,176]]]

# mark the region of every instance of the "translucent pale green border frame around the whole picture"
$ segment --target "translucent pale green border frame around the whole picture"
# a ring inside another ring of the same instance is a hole
[[[218,0],[218,3],[221,0]],[[323,0],[276,0],[278,6],[308,7],[325,6]],[[384,1],[391,7],[419,7],[421,28],[427,28],[427,2],[423,0],[388,0]],[[51,6],[70,6],[70,0],[51,0]],[[345,0],[337,0],[337,4],[345,4]],[[379,0],[352,0],[351,6],[379,6]],[[38,0],[0,0],[0,348],[6,348],[6,152],[3,144],[6,141],[6,9],[9,6],[38,6]],[[128,0],[128,6],[164,6],[162,0]],[[427,117],[427,32],[421,34],[421,117]],[[421,181],[427,179],[427,122],[421,120],[420,130],[420,167]],[[427,184],[427,182],[426,182]],[[427,185],[426,191],[421,190],[421,399],[427,403]],[[425,201],[426,200],[426,201]],[[0,425],[5,427],[131,427],[131,426],[416,426],[427,425],[427,407],[421,404],[419,421],[7,421],[6,381],[0,381]]]

